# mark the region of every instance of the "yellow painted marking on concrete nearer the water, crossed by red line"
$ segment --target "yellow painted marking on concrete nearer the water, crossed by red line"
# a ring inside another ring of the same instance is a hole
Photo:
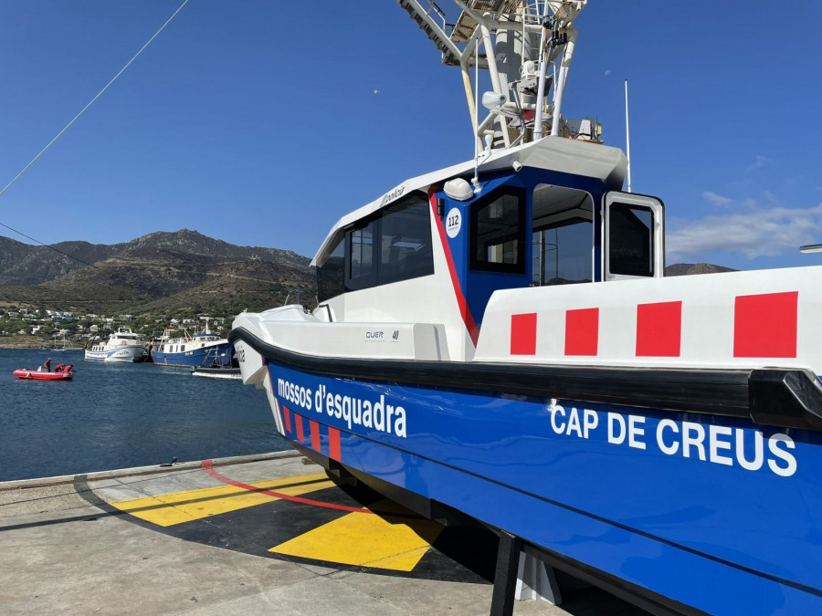
[[[283,479],[260,481],[253,485],[262,490],[281,492],[288,496],[300,496],[315,492],[334,484],[325,473],[300,475]],[[251,492],[250,490],[226,485],[205,487],[188,492],[176,492],[162,496],[147,496],[111,503],[121,511],[161,527],[171,527],[183,522],[216,516],[229,511],[237,511],[248,506],[262,505],[275,500],[276,496]]]

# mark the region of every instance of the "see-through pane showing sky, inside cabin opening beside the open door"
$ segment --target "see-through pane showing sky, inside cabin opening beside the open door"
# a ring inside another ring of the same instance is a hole
[[[594,224],[571,218],[533,233],[534,286],[591,282]]]

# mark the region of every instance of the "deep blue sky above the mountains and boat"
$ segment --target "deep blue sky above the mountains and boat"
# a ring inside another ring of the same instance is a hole
[[[181,3],[0,0],[0,188]],[[633,188],[666,204],[669,264],[818,265],[797,246],[822,243],[822,3],[705,6],[590,0],[564,114],[624,148],[628,79]],[[190,0],[0,195],[0,223],[312,256],[342,214],[472,155],[458,69],[394,0]]]

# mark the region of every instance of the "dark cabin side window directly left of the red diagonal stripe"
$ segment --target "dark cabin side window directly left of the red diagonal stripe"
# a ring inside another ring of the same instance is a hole
[[[380,219],[377,285],[434,273],[430,207],[424,197],[385,210]]]

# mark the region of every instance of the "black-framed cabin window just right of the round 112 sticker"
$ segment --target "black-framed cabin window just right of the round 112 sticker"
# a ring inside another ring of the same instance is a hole
[[[471,205],[470,267],[486,272],[525,272],[525,196],[492,193]]]

